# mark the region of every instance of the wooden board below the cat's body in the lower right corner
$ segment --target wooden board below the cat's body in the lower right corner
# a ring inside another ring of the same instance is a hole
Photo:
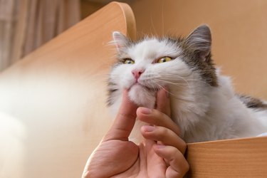
[[[267,177],[267,137],[192,143],[189,177]]]

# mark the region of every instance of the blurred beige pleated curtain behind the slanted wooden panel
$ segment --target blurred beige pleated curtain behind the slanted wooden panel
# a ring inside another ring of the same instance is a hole
[[[0,0],[0,71],[78,21],[79,0]]]

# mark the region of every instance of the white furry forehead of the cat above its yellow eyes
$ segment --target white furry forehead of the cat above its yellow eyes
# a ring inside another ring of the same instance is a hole
[[[146,38],[128,48],[128,55],[135,59],[154,60],[162,56],[178,56],[181,53],[176,43],[157,38]]]

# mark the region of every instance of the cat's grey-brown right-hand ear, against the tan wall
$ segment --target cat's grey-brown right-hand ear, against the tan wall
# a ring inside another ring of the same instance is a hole
[[[211,31],[209,26],[201,25],[194,29],[184,41],[187,49],[196,53],[201,60],[208,60],[211,52]]]

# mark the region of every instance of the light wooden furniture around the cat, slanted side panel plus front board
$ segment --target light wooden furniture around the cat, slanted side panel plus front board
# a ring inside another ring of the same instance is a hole
[[[108,4],[0,74],[0,177],[80,177],[112,121],[112,31],[135,38],[127,4]],[[189,144],[189,174],[266,177],[266,148],[267,137]]]

